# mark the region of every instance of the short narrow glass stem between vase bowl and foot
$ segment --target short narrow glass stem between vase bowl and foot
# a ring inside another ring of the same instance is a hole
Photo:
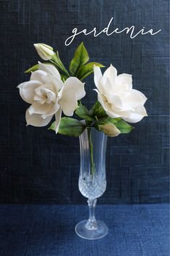
[[[89,218],[88,222],[86,223],[86,228],[90,230],[95,230],[98,228],[98,223],[95,220],[95,205],[97,199],[88,199],[88,207],[89,207]]]

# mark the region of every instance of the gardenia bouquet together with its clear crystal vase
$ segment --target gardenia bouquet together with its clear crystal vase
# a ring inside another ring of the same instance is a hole
[[[95,220],[96,200],[106,189],[106,139],[132,131],[129,123],[137,123],[147,115],[146,97],[132,88],[132,75],[117,75],[112,65],[102,75],[103,65],[88,62],[83,43],[77,47],[69,71],[58,51],[46,44],[34,46],[46,62],[38,62],[27,70],[26,73],[31,72],[30,81],[18,86],[22,99],[31,104],[25,115],[27,125],[48,125],[55,115],[56,120],[48,129],[80,136],[79,189],[88,198],[90,214],[88,221],[78,223],[75,231],[85,239],[100,239],[108,234],[106,224]],[[91,73],[94,73],[98,101],[88,110],[81,102],[85,96],[82,80]],[[70,117],[74,114],[81,120]]]

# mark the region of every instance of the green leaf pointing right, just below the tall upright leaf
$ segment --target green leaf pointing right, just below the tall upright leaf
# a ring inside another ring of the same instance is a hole
[[[93,73],[93,67],[97,66],[97,67],[104,67],[101,63],[98,62],[89,62],[86,65],[82,65],[79,70],[77,70],[77,78],[79,78],[80,80],[83,80],[84,78],[86,78],[88,75],[90,75],[91,73]]]

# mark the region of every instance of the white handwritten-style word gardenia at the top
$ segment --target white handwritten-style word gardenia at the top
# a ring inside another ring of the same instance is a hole
[[[153,32],[153,29],[152,29],[152,28],[151,28],[150,30],[148,30],[148,31],[145,31],[145,27],[143,27],[143,28],[140,29],[139,31],[135,31],[135,26],[132,25],[130,28],[127,27],[127,28],[124,28],[124,29],[122,29],[122,30],[119,30],[119,28],[116,28],[116,29],[113,30],[112,32],[109,32],[109,29],[110,29],[110,26],[111,26],[111,22],[112,22],[113,19],[114,19],[114,18],[111,17],[111,20],[109,21],[109,24],[107,25],[107,27],[104,28],[103,30],[101,30],[100,32],[97,32],[97,28],[93,28],[93,30],[91,30],[90,32],[87,32],[87,29],[86,29],[86,28],[83,29],[83,30],[80,31],[80,32],[77,32],[77,28],[74,28],[74,29],[72,30],[73,35],[72,35],[72,36],[69,36],[69,38],[67,38],[67,40],[65,41],[65,45],[66,45],[66,46],[69,46],[69,44],[72,44],[72,41],[75,39],[75,37],[76,37],[77,35],[80,35],[81,33],[84,33],[85,36],[88,36],[88,35],[90,35],[90,34],[93,33],[93,36],[94,36],[94,37],[97,37],[97,36],[101,35],[101,33],[106,33],[106,36],[111,36],[111,35],[114,34],[114,33],[119,34],[119,33],[122,33],[122,32],[125,31],[126,34],[129,33],[129,37],[133,39],[133,38],[135,38],[136,36],[138,36],[139,34],[141,34],[141,35],[146,35],[146,34],[150,33],[151,36],[154,36],[154,35],[156,35],[157,33],[159,33],[159,32],[161,31],[161,29],[160,29],[160,30],[157,30],[156,32]]]

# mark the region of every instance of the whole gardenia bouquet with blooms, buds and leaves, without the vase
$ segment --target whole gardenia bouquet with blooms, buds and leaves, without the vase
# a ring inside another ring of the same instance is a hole
[[[61,62],[58,51],[46,44],[34,46],[46,62],[38,62],[26,70],[25,73],[31,73],[30,80],[17,86],[22,99],[31,104],[25,114],[27,125],[48,125],[55,115],[49,129],[56,133],[80,136],[85,128],[93,127],[108,136],[117,136],[132,131],[129,123],[137,123],[147,116],[144,107],[147,98],[132,88],[132,75],[117,75],[112,65],[102,75],[101,67],[104,66],[88,62],[88,51],[83,43],[77,47],[69,71]],[[81,103],[85,96],[82,81],[91,73],[94,73],[98,101],[88,110]],[[65,117],[61,117],[62,114]],[[72,118],[74,114],[85,121]]]

